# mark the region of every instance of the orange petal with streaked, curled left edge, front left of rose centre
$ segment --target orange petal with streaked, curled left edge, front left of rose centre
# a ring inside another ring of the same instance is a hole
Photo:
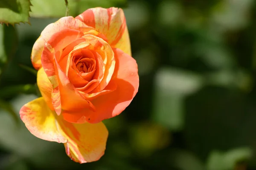
[[[52,84],[52,105],[57,115],[63,110],[79,110],[84,108],[93,109],[90,101],[87,101],[83,95],[70,83],[67,76],[61,70],[54,57],[54,50],[48,43],[42,53],[42,66]]]

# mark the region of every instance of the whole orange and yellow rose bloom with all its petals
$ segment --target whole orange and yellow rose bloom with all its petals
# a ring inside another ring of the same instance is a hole
[[[28,130],[64,143],[73,161],[98,160],[108,138],[102,120],[119,115],[139,87],[122,9],[88,9],[49,24],[31,61],[42,97],[20,109]]]

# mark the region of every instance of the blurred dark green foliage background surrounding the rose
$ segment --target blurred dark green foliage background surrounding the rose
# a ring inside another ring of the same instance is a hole
[[[64,16],[49,2],[31,15]],[[0,169],[256,170],[256,1],[84,0],[78,11],[96,6],[124,9],[140,75],[131,105],[104,121],[105,155],[75,163],[20,121],[37,98],[32,46],[58,20],[32,17],[0,25],[0,56],[12,58],[0,62]]]

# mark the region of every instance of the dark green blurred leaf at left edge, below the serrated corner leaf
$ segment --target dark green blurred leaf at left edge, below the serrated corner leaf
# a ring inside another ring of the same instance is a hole
[[[1,8],[0,8],[1,9]],[[0,14],[1,16],[1,14]],[[17,33],[13,26],[0,25],[0,75],[16,52]]]

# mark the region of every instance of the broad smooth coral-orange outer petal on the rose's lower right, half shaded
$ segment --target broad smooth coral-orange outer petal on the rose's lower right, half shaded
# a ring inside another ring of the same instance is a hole
[[[104,119],[119,115],[132,101],[138,92],[139,75],[136,61],[120,49],[113,49],[116,57],[115,71],[110,84],[116,83],[113,92],[95,98],[92,103],[95,112],[87,109],[84,112],[64,113],[65,120],[76,123],[88,121],[98,123]]]

